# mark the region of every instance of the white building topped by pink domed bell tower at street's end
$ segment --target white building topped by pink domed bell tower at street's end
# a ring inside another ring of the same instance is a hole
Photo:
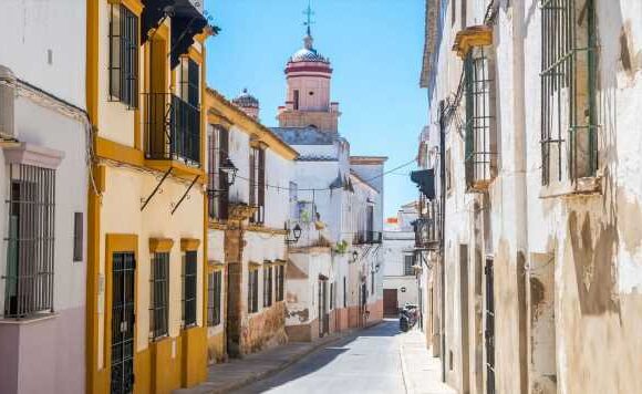
[[[302,235],[290,246],[287,329],[290,339],[309,341],[381,320],[386,158],[350,155],[339,103],[330,101],[330,62],[310,31],[303,41],[286,66],[286,105],[272,129],[299,152],[290,227]]]

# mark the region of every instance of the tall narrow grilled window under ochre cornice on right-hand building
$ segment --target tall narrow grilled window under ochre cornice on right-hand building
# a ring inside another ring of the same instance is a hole
[[[474,46],[464,60],[466,94],[465,170],[468,190],[486,190],[495,177],[495,89],[488,49]]]

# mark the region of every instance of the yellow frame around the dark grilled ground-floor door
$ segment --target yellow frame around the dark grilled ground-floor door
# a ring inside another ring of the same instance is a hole
[[[103,369],[106,372],[107,391],[112,385],[112,308],[114,300],[113,291],[113,267],[114,253],[133,252],[134,253],[134,349],[132,352],[132,364],[134,371],[134,392],[136,392],[136,343],[138,329],[136,324],[136,314],[138,311],[138,236],[135,234],[107,234],[105,239],[105,324],[104,324],[104,351],[103,351]]]

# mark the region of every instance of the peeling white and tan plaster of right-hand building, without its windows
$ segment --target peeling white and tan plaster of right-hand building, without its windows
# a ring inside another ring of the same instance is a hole
[[[460,388],[466,379],[462,377],[459,339],[465,317],[459,313],[457,256],[459,245],[466,243],[468,294],[475,302],[469,303],[470,340],[485,323],[472,310],[485,307],[475,290],[476,262],[494,260],[498,392],[636,393],[642,386],[642,21],[634,15],[642,14],[642,3],[596,1],[601,191],[590,196],[546,196],[541,187],[538,3],[498,2],[494,50],[499,68],[499,174],[487,199],[465,194],[464,134],[456,121],[446,132],[454,179],[447,193],[445,234],[447,381]],[[438,102],[452,97],[460,74],[462,61],[451,52],[460,25],[457,21],[451,28],[447,7],[431,122],[437,122]],[[478,23],[484,11],[469,7],[468,22]],[[459,118],[465,118],[463,104]],[[431,127],[431,135],[434,146],[438,129]],[[480,226],[476,210],[485,215]],[[438,291],[433,290],[433,296]],[[484,349],[482,361],[485,357]],[[475,369],[478,361],[472,354],[470,393],[483,388],[477,374],[486,380],[484,369]]]

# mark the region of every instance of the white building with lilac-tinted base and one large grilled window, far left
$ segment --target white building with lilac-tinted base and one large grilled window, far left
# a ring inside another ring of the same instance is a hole
[[[82,393],[85,2],[2,6],[0,392]]]

